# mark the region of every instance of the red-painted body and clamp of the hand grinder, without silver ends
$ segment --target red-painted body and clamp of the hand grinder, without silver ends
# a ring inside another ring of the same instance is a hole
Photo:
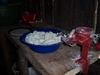
[[[76,28],[75,32],[73,33],[72,37],[67,38],[67,40],[71,41],[72,44],[79,44],[82,45],[82,53],[81,58],[76,61],[76,63],[83,66],[83,73],[88,73],[88,50],[93,44],[92,38],[90,35],[93,34],[94,31],[92,28],[89,27],[78,27]],[[66,42],[67,43],[67,42]]]

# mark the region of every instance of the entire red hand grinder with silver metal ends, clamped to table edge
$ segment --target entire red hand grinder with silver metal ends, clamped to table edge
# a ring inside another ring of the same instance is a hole
[[[82,52],[80,59],[76,60],[76,63],[83,66],[83,73],[88,73],[89,60],[88,50],[89,48],[98,41],[98,34],[94,34],[93,28],[90,27],[78,27],[73,29],[69,34],[62,36],[62,41],[70,46],[79,44],[82,46]],[[96,45],[97,49],[100,49],[100,43]]]

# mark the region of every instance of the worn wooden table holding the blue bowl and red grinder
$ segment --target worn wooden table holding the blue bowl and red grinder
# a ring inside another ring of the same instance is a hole
[[[40,54],[32,51],[20,41],[20,37],[11,36],[4,31],[6,37],[18,48],[20,75],[29,75],[27,62],[29,61],[43,75],[75,75],[82,70],[82,66],[75,63],[80,58],[80,47],[61,45],[52,53]],[[100,51],[89,50],[90,64],[99,57]]]

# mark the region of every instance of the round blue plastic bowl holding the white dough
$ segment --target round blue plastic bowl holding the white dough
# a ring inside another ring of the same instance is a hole
[[[60,30],[56,30],[56,29],[39,29],[37,31],[44,31],[44,32],[51,31],[53,33],[59,33],[59,32],[61,32]],[[34,30],[29,31],[29,32],[23,34],[20,39],[21,39],[21,41],[24,44],[27,44],[35,52],[38,52],[38,53],[51,53],[51,52],[54,52],[54,51],[56,51],[60,47],[60,45],[62,43],[62,42],[59,42],[59,43],[51,44],[51,45],[30,44],[30,43],[28,43],[28,42],[25,41],[25,37],[26,37],[27,34],[32,33],[32,32],[34,32]]]

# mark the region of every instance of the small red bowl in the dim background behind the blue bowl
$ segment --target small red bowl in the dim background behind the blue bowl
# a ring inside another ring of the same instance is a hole
[[[34,13],[24,13],[22,14],[22,18],[26,23],[32,22],[36,18],[36,14]]]

